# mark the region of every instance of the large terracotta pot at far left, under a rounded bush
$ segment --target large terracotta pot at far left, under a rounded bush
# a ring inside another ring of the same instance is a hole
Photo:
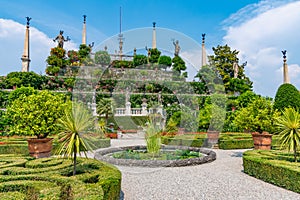
[[[28,142],[28,150],[30,156],[35,158],[47,158],[51,156],[53,138],[30,138]]]

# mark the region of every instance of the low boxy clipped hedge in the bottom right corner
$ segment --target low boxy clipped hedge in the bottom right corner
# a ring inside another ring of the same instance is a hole
[[[250,176],[300,193],[300,163],[293,162],[291,153],[250,150],[243,154],[243,165]]]

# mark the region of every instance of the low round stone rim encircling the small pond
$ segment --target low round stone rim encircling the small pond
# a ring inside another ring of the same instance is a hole
[[[199,152],[201,157],[187,158],[180,160],[136,160],[136,159],[123,159],[113,158],[112,155],[116,152],[122,151],[145,151],[147,148],[143,145],[115,147],[108,149],[100,149],[95,152],[95,159],[105,161],[114,165],[124,166],[140,166],[140,167],[183,167],[190,165],[200,165],[207,162],[212,162],[216,159],[216,153],[210,149],[197,148],[197,147],[184,147],[184,146],[165,146],[162,145],[161,150],[164,152],[176,151],[176,150],[189,150],[193,152]]]

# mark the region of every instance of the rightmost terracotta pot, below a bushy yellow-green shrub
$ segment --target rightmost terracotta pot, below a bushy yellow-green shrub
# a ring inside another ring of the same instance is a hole
[[[252,133],[254,149],[271,150],[272,134],[268,132]]]

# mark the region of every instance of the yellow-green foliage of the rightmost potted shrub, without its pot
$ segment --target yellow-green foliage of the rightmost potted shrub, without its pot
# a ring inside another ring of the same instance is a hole
[[[233,123],[242,130],[274,133],[273,121],[278,115],[270,99],[258,97],[247,107],[237,111]]]

